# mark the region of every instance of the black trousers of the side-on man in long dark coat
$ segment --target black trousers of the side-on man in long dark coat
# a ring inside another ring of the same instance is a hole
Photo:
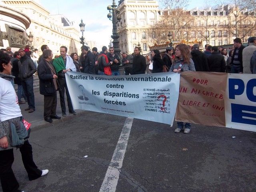
[[[55,116],[57,107],[57,94],[51,96],[44,95],[44,119]]]

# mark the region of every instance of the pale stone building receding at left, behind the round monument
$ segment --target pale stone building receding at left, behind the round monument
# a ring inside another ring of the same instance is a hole
[[[31,24],[26,32],[33,34],[34,48],[40,50],[43,44],[47,44],[53,54],[60,54],[60,46],[64,45],[68,53],[80,52],[80,31],[65,16],[51,15],[34,0],[2,0],[2,3],[30,18]]]

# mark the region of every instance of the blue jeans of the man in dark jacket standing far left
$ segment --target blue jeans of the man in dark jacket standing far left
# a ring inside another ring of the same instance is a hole
[[[34,79],[33,76],[22,80],[22,87],[28,100],[28,107],[35,110],[35,96],[33,89]]]

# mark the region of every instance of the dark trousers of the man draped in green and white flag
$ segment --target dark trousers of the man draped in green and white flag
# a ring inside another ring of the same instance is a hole
[[[58,78],[59,82],[60,82],[60,107],[61,107],[61,111],[62,113],[66,112],[66,104],[65,104],[65,90],[66,90],[66,96],[67,96],[67,102],[68,102],[68,111],[73,111],[73,106],[72,106],[72,102],[71,102],[71,98],[68,92],[68,86],[66,83],[66,78],[62,78],[59,77]]]

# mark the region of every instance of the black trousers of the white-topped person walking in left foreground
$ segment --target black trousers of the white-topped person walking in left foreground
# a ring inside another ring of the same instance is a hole
[[[27,141],[20,148],[22,155],[22,162],[28,173],[28,179],[35,180],[42,175],[42,171],[39,170],[34,163],[32,146]],[[14,162],[13,149],[0,151],[0,180],[2,184],[3,192],[20,192],[18,190],[19,184],[12,171],[12,163]]]

